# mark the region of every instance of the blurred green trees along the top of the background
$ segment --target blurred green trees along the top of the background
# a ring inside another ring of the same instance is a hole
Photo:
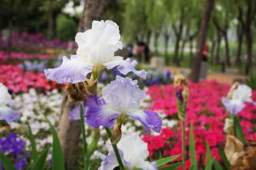
[[[75,7],[83,0],[0,0],[0,28],[14,27],[18,31],[30,33],[43,31],[49,40],[53,37],[73,40],[77,30],[86,30],[88,26],[83,25],[84,18],[81,16],[84,15],[70,16],[63,11],[70,1],[73,1]],[[180,66],[185,46],[190,48],[190,61],[187,62],[192,63],[193,42],[198,39],[205,4],[206,0],[104,0],[104,3],[96,5],[93,10],[91,8],[90,14],[92,18],[93,15],[101,15],[97,13],[97,8],[105,8],[104,18],[113,20],[120,26],[124,42],[150,43],[153,40],[155,55],[159,53],[159,37],[164,37],[161,41],[165,46],[166,64],[172,61]],[[85,0],[84,8],[90,7],[90,4],[86,7]],[[247,69],[252,67],[252,60],[256,55],[255,50],[253,51],[255,16],[256,0],[214,1],[207,32],[207,42],[211,47],[210,63],[221,62],[220,46],[221,41],[224,41],[225,63],[227,66],[231,65],[233,56],[230,54],[228,30],[236,28],[236,64],[241,67],[242,48],[246,48]],[[172,55],[168,53],[170,37],[175,40]]]

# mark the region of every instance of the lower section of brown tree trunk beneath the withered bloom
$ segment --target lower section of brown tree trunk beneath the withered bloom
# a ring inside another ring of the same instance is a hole
[[[65,93],[61,105],[61,115],[57,130],[67,170],[73,170],[78,158],[81,123],[79,120],[70,120],[68,115],[68,112],[77,106],[79,106],[79,103],[69,102],[68,93]]]

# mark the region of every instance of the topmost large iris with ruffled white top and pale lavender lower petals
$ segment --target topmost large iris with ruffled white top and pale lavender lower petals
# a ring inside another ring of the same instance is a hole
[[[96,79],[99,72],[118,66],[120,73],[126,75],[132,71],[137,76],[146,79],[146,71],[137,71],[137,61],[123,60],[123,57],[114,56],[114,52],[122,49],[119,41],[119,26],[113,21],[93,21],[92,28],[84,33],[77,33],[75,42],[78,44],[77,55],[70,59],[63,57],[63,62],[58,68],[45,70],[48,79],[57,83],[78,83],[86,80],[88,73]]]

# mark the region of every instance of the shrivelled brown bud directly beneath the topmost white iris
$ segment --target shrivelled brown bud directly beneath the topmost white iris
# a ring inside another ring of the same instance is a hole
[[[68,100],[70,102],[81,102],[83,99],[87,101],[89,100],[82,82],[74,83],[73,85],[68,83],[65,88],[69,94]]]

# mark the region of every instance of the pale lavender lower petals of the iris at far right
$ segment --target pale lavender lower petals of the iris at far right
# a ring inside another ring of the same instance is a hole
[[[237,115],[238,112],[246,106],[242,101],[228,99],[227,97],[222,97],[221,102],[226,107],[227,111],[230,111],[233,115]]]

